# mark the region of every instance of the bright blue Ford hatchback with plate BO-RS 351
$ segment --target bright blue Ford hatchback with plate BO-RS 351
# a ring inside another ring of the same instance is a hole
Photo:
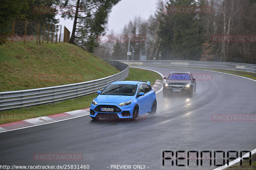
[[[116,81],[109,84],[92,100],[90,116],[94,120],[107,118],[138,119],[138,116],[156,113],[156,92],[149,81]]]

